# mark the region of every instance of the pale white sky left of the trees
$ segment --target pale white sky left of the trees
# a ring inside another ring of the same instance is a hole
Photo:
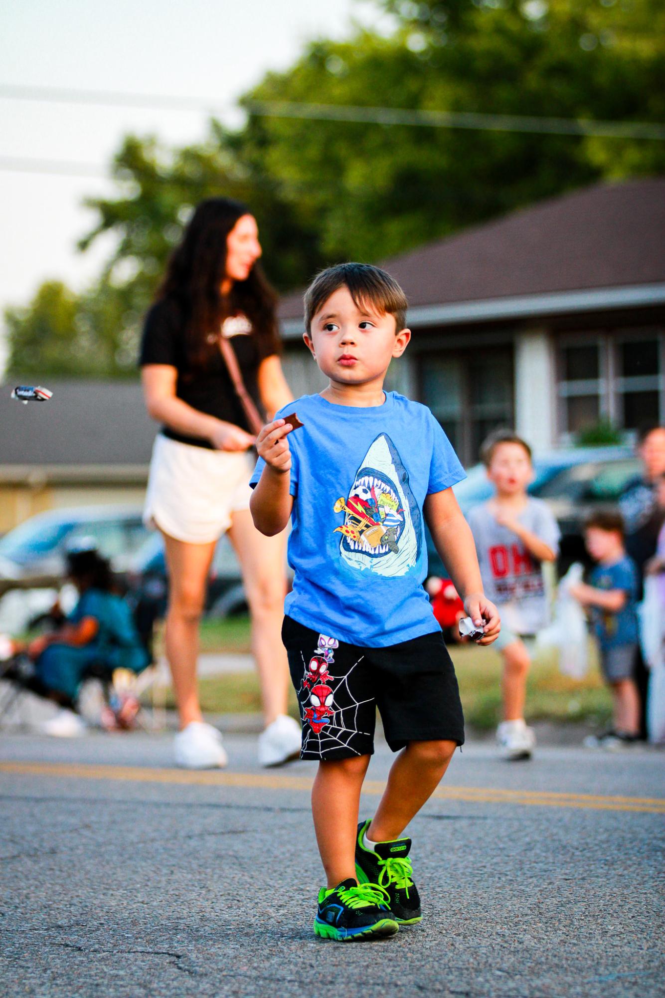
[[[352,18],[370,23],[376,11],[368,0],[21,0],[0,13],[0,87],[199,97],[232,108],[308,40],[343,38]],[[48,176],[25,163],[8,170],[8,161],[106,168],[127,133],[183,145],[204,137],[208,117],[0,97],[0,315],[46,278],[80,290],[112,245],[76,250],[95,222],[84,199],[113,192],[104,176]],[[238,120],[232,110],[219,117]],[[2,359],[0,346],[0,369]]]

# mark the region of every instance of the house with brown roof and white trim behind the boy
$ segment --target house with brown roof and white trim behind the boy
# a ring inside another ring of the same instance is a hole
[[[535,448],[665,419],[665,178],[598,185],[380,261],[413,339],[388,387],[427,403],[466,464],[498,426]],[[296,394],[320,374],[281,304]]]

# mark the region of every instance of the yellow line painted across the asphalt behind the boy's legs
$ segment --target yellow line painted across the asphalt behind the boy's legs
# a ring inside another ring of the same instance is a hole
[[[0,773],[61,776],[73,779],[112,779],[143,783],[182,783],[190,786],[240,786],[270,790],[310,790],[309,776],[276,772],[220,772],[218,770],[154,769],[134,765],[89,765],[72,762],[0,762]],[[381,794],[385,782],[368,779],[363,792]],[[640,811],[665,814],[665,798],[600,796],[552,790],[506,790],[492,786],[442,786],[433,796],[467,803],[510,803],[530,807],[578,807],[589,810]]]

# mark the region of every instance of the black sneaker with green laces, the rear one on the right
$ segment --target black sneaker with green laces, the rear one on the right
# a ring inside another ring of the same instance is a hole
[[[377,884],[388,892],[392,917],[398,925],[415,925],[423,913],[418,888],[413,881],[410,838],[377,842],[375,851],[365,848],[363,838],[371,819],[361,821],[356,838],[356,874],[358,883]]]

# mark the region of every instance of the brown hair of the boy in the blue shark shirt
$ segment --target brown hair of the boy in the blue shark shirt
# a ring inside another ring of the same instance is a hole
[[[407,327],[407,296],[389,273],[369,263],[338,263],[314,277],[305,291],[305,329],[311,331],[312,318],[331,294],[346,287],[356,308],[371,305],[380,315],[395,316],[395,332]]]

